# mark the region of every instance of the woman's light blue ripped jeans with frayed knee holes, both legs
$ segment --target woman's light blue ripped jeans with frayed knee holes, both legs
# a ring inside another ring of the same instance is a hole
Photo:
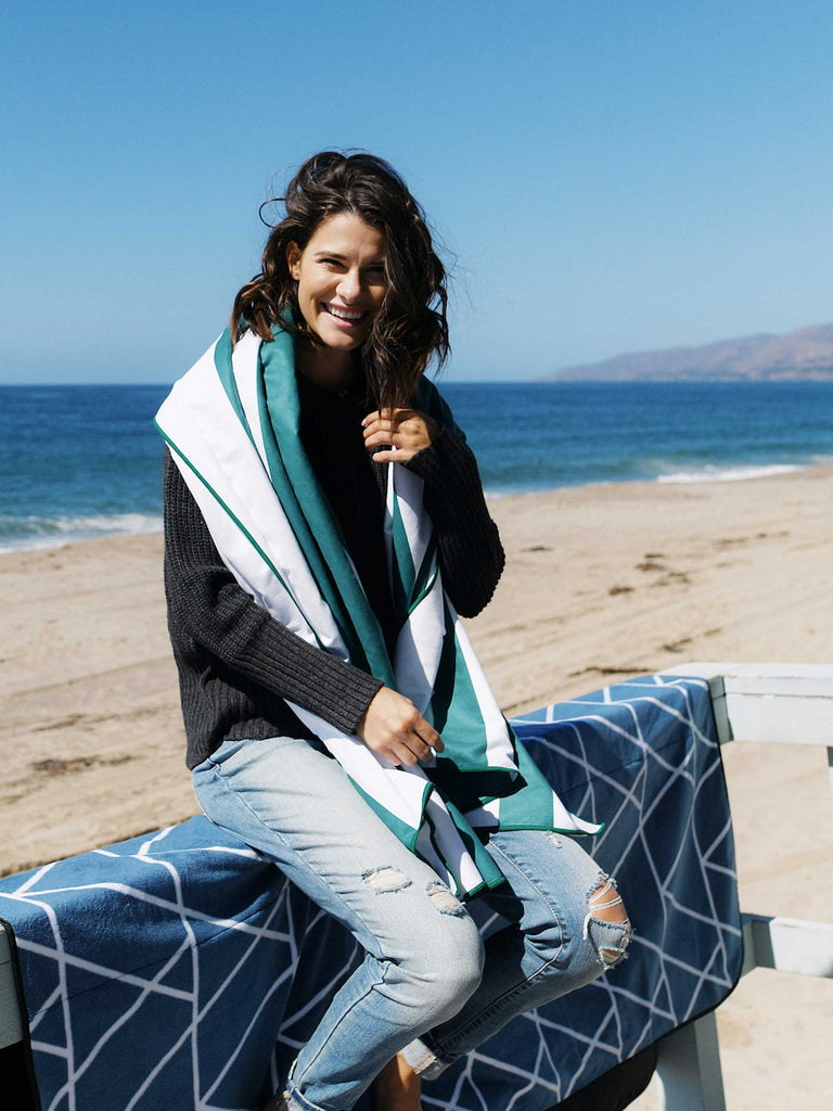
[[[365,950],[298,1054],[291,1111],[350,1111],[399,1051],[430,1080],[515,1014],[624,954],[628,921],[593,913],[618,902],[615,891],[571,838],[492,835],[489,852],[508,882],[478,902],[508,924],[484,944],[465,907],[310,742],[225,741],[193,783],[212,821],[274,860]]]

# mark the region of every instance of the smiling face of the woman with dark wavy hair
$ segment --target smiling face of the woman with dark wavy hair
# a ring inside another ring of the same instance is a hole
[[[353,212],[318,226],[303,250],[287,248],[298,304],[310,330],[333,353],[355,350],[384,300],[384,237]]]

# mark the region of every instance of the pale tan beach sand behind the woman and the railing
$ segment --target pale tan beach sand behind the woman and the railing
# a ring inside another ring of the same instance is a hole
[[[833,468],[491,506],[508,569],[469,628],[508,714],[686,660],[833,662]],[[0,556],[4,873],[195,812],[161,552],[131,536]],[[824,750],[724,759],[744,910],[833,921]],[[833,983],[757,970],[719,1022],[730,1111],[833,1105]]]

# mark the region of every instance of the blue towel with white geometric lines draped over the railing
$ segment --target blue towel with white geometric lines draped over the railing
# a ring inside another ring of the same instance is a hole
[[[740,974],[705,683],[649,677],[513,725],[565,805],[606,821],[583,843],[616,877],[636,932],[624,964],[426,1084],[431,1111],[545,1111],[715,1007]],[[47,1111],[257,1108],[361,959],[278,869],[204,818],[7,877],[0,915],[18,938]]]

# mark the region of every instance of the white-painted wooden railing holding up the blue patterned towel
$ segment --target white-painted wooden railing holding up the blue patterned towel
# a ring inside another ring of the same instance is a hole
[[[709,681],[721,744],[826,748],[833,792],[833,665],[688,663],[663,673]],[[833,978],[833,923],[742,910],[742,974],[764,968]],[[661,1040],[656,1072],[660,1111],[732,1111],[723,1092],[715,1012]]]

